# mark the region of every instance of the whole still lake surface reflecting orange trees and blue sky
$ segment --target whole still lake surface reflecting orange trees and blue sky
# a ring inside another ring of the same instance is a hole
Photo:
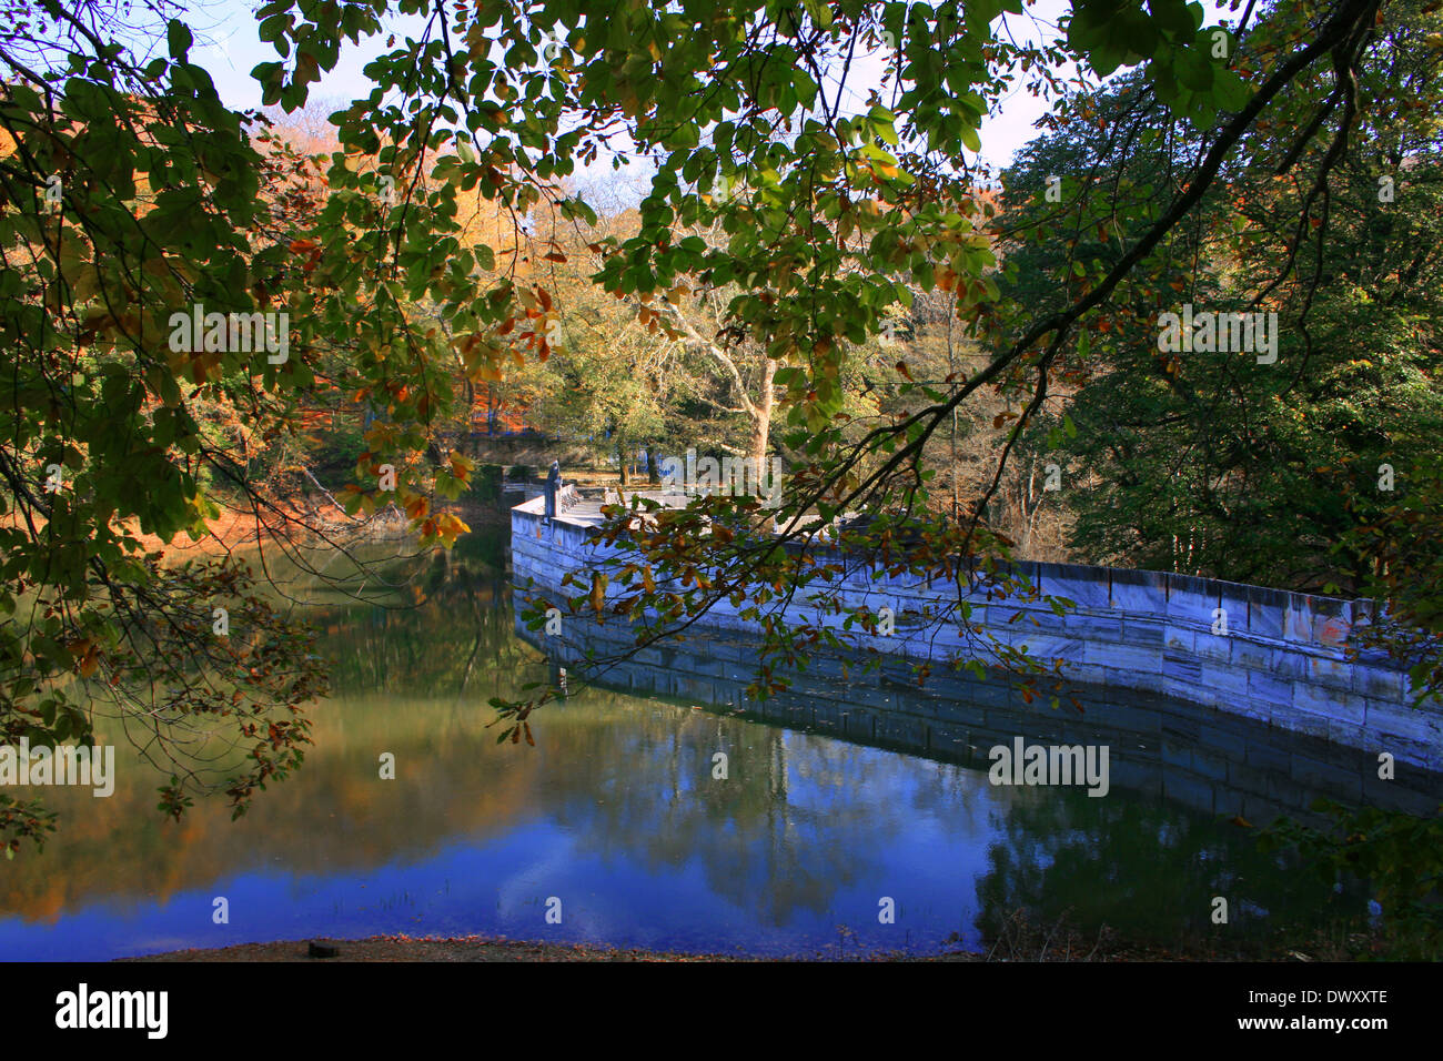
[[[1167,941],[1219,931],[1214,895],[1234,933],[1361,902],[1260,855],[1216,795],[1203,810],[1159,791],[1146,762],[1165,749],[1139,754],[1133,788],[1089,798],[639,689],[580,691],[532,716],[534,748],[498,745],[488,699],[553,664],[517,637],[485,557],[410,570],[382,603],[317,595],[335,694],[302,769],[245,817],[216,798],[165,820],[162,778],[126,745],[113,797],[49,790],[58,836],[0,863],[0,959],[375,934],[835,956],[980,947],[1017,907]]]

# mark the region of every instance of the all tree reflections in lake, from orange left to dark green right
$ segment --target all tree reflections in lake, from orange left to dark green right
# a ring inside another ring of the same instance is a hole
[[[999,805],[1007,842],[978,882],[984,930],[1016,907],[1072,907],[1079,924],[1166,931],[1205,925],[1216,894],[1235,921],[1241,899],[1281,912],[1304,901],[1316,911],[1326,898],[1304,889],[1310,881],[1293,898],[1263,895],[1254,878],[1277,870],[1247,833],[1172,805],[990,790],[961,767],[625,693],[589,690],[548,706],[535,716],[537,748],[496,746],[488,697],[518,694],[545,665],[515,638],[504,583],[455,564],[427,573],[416,609],[381,611],[380,621],[369,606],[328,614],[336,697],[315,709],[304,767],[245,818],[231,823],[224,805],[201,803],[179,826],[165,823],[154,775],[117,764],[110,800],[46,795],[75,827],[38,859],[7,866],[3,908],[49,917],[97,898],[163,902],[258,865],[368,872],[547,817],[582,853],[657,873],[696,868],[760,924],[785,925],[880,881],[882,859],[919,821],[939,823],[960,853],[974,850],[991,831],[984,811]],[[382,751],[397,755],[395,781],[377,778]],[[711,778],[717,751],[729,756],[726,781]],[[496,868],[498,881],[509,870]]]

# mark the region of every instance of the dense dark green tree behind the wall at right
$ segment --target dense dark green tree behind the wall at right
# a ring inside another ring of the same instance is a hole
[[[1426,62],[1397,66],[1426,51],[1430,23],[1436,16],[1401,7],[1375,26],[1365,46],[1372,62],[1359,74],[1365,97],[1387,91],[1384,79],[1426,95]],[[1251,51],[1250,40],[1244,55]],[[1320,91],[1299,92],[1248,136],[1251,165],[1234,167],[1172,241],[1167,271],[1152,287],[1160,299],[1133,292],[1108,306],[1108,331],[1092,336],[1100,357],[1069,403],[1078,430],[1062,440],[1074,481],[1091,484],[1068,492],[1079,514],[1074,544],[1085,554],[1303,590],[1362,586],[1335,546],[1387,501],[1382,465],[1418,468],[1443,426],[1429,323],[1440,309],[1437,130],[1421,108],[1369,110],[1348,152],[1315,180],[1287,157],[1326,160],[1326,143],[1294,147],[1325,102]],[[1108,254],[1088,237],[1088,198],[1100,183],[1146,191],[1157,211],[1175,179],[1176,150],[1152,136],[1136,84],[1087,107],[1089,117],[1038,140],[1012,175],[1013,225],[1062,215],[1052,235],[1009,258],[1020,266],[1019,299],[1056,299],[1039,263]],[[1114,153],[1133,140],[1150,147]],[[1091,185],[1052,205],[1043,185],[1055,173],[1088,173]],[[1405,204],[1394,199],[1394,180]],[[1277,313],[1274,359],[1160,352],[1159,315],[1182,303],[1199,313]]]

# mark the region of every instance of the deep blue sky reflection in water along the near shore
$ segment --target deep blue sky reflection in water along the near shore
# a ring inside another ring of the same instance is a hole
[[[690,715],[671,707],[664,712]],[[784,738],[786,749],[801,746],[801,755],[820,743],[835,742],[797,733]],[[524,814],[498,839],[457,836],[420,860],[333,875],[274,866],[225,875],[162,902],[115,896],[66,909],[49,924],[12,917],[0,921],[0,954],[98,960],[253,940],[400,933],[810,953],[834,944],[837,925],[847,925],[870,947],[938,943],[965,930],[975,905],[974,878],[987,870],[987,844],[1000,836],[988,827],[974,829],[974,816],[949,816],[945,801],[918,807],[926,797],[908,772],[915,768],[919,778],[935,778],[948,771],[971,785],[981,780],[973,791],[990,801],[986,780],[955,767],[908,762],[892,752],[848,751],[857,752],[863,767],[877,761],[872,768],[883,784],[861,788],[820,771],[810,778],[789,771],[785,804],[778,797],[775,810],[782,826],[742,840],[753,849],[752,857],[734,865],[742,876],[720,882],[724,891],[716,886],[716,870],[719,857],[739,843],[734,823],[722,823],[700,837],[696,853],[681,852],[658,865],[641,833],[633,836],[638,850],[592,834],[595,821],[587,821],[587,808],[567,795],[556,817],[543,807],[540,814]],[[706,782],[711,782],[710,774]],[[670,791],[652,795],[657,803],[672,800]],[[828,823],[838,818],[861,827],[837,834]],[[883,836],[866,824],[876,820],[905,820],[906,829]],[[838,859],[840,852],[854,850],[854,840],[869,850]],[[771,857],[773,846],[779,859]],[[838,860],[847,865],[848,879],[828,878]],[[773,876],[778,868],[795,872],[797,879]],[[805,883],[817,879],[824,886]],[[807,894],[791,895],[792,883]],[[227,925],[211,920],[216,895],[229,901]],[[545,924],[553,895],[561,899],[560,925]],[[815,895],[823,899],[817,902]],[[882,896],[896,901],[895,925],[877,922]]]

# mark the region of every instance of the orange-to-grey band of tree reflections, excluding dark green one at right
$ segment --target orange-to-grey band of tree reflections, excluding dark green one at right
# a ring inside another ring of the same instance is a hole
[[[431,637],[449,635],[431,651],[460,655],[476,631],[431,611],[404,614],[417,629],[403,625],[398,637],[431,645]],[[509,616],[499,602],[494,611],[502,622],[483,625],[483,637],[509,638]],[[364,638],[341,647],[369,651]],[[199,804],[180,826],[162,821],[153,778],[128,767],[110,800],[56,793],[88,827],[38,860],[13,863],[4,908],[45,917],[97,898],[165,901],[260,865],[297,875],[367,872],[505,836],[544,816],[603,862],[659,873],[696,866],[739,909],[786,924],[797,909],[828,909],[838,889],[874,873],[873,857],[916,803],[889,800],[916,785],[899,756],[603,690],[547,707],[537,748],[496,746],[486,729],[491,687],[512,694],[541,671],[538,663],[492,663],[496,655],[485,650],[460,700],[437,678],[456,678],[459,668],[433,661],[375,691],[328,702],[316,712],[304,769],[237,823],[218,804]],[[377,777],[381,751],[397,756],[394,781]],[[726,781],[711,778],[717,751],[729,755]]]

